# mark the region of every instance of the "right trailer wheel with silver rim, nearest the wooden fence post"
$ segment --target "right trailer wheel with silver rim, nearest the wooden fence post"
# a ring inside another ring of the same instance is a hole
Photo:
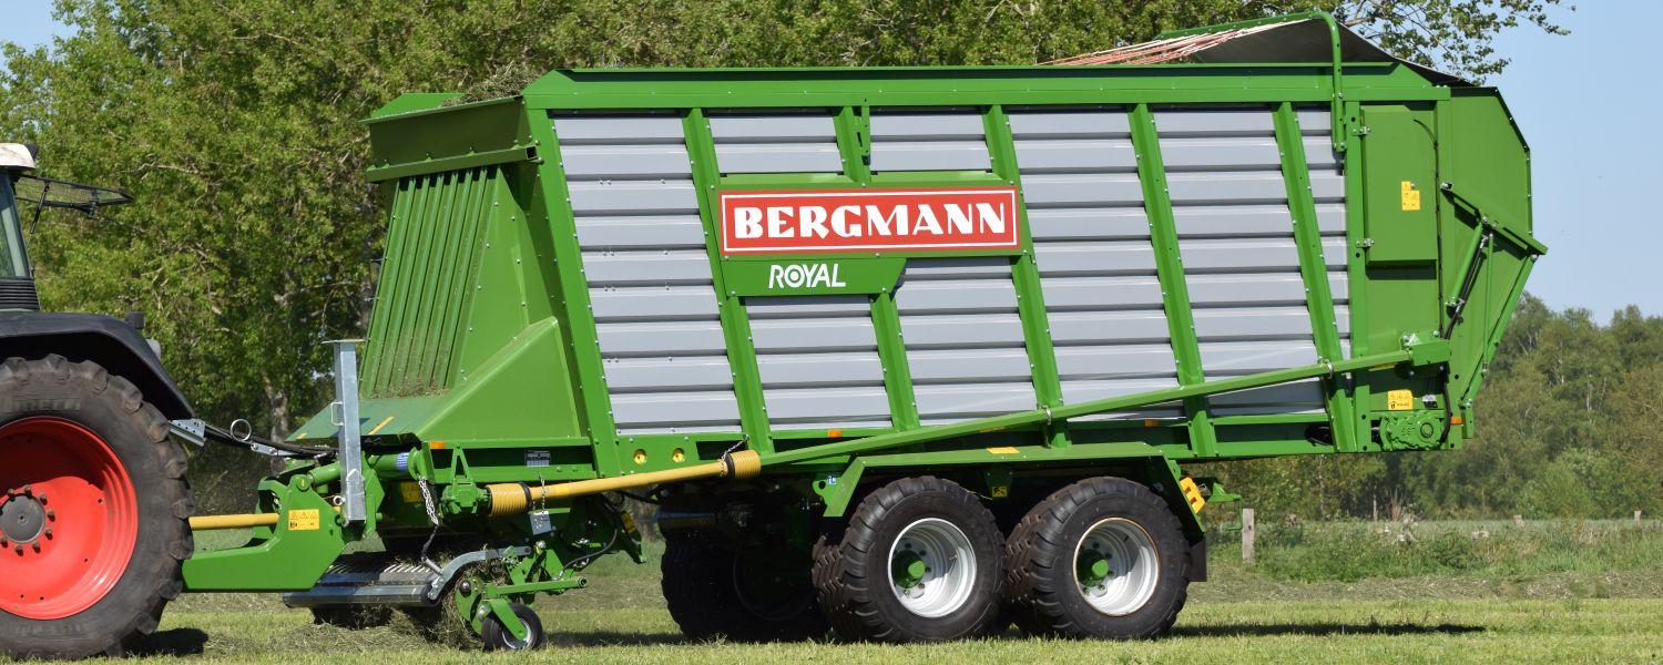
[[[1189,544],[1142,484],[1093,477],[1034,505],[1006,540],[1006,607],[1029,635],[1166,633],[1189,592]]]

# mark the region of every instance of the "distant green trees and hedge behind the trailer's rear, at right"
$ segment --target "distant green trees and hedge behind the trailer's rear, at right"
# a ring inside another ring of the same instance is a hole
[[[1222,466],[1232,490],[1310,517],[1623,517],[1663,512],[1663,318],[1525,296],[1460,451]]]

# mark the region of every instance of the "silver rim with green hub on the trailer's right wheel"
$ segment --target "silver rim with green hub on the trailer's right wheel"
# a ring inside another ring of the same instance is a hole
[[[1074,590],[1098,612],[1124,617],[1141,610],[1161,582],[1161,550],[1137,522],[1109,517],[1074,545]]]

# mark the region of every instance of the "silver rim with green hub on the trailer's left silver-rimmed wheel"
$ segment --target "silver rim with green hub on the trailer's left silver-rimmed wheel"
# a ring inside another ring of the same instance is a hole
[[[890,544],[890,590],[908,612],[946,617],[965,607],[976,585],[976,550],[953,522],[925,517]]]

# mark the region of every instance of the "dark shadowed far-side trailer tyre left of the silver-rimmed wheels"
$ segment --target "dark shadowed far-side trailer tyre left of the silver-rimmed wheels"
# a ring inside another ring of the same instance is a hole
[[[698,535],[665,539],[664,600],[682,635],[748,643],[823,638],[830,625],[815,607],[807,557],[800,564],[778,560],[790,559],[783,552],[763,557],[747,562]]]

